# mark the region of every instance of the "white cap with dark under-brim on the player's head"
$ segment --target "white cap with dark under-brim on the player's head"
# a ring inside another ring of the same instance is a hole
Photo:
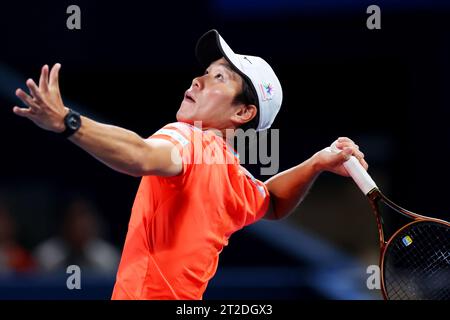
[[[260,57],[234,53],[214,29],[200,37],[195,54],[205,67],[224,57],[243,78],[248,80],[258,96],[259,124],[256,130],[270,128],[280,110],[283,91],[275,72],[266,61]]]

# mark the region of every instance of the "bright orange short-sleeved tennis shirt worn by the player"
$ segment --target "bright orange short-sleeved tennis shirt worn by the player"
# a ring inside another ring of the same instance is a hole
[[[213,131],[176,122],[150,139],[172,142],[183,169],[142,178],[112,299],[202,299],[229,237],[264,216],[269,192]]]

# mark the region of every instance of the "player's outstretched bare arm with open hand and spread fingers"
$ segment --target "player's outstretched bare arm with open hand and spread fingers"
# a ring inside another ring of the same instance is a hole
[[[39,87],[27,80],[31,96],[18,89],[16,95],[28,108],[14,107],[14,113],[26,117],[39,127],[62,132],[68,109],[61,99],[56,64],[49,76],[42,68]],[[81,128],[69,140],[110,168],[132,176],[174,176],[181,172],[181,157],[172,152],[174,145],[162,139],[143,139],[136,133],[82,117]],[[174,158],[172,158],[174,157]]]

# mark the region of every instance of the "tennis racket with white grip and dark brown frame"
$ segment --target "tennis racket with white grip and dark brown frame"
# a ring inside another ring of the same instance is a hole
[[[329,151],[341,150],[332,145]],[[383,297],[450,300],[450,224],[413,213],[389,200],[354,156],[344,167],[375,213]]]

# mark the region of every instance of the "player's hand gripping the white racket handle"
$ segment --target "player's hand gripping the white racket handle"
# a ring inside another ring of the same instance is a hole
[[[343,164],[350,159],[351,156],[355,156],[364,169],[368,169],[369,165],[364,160],[364,153],[359,150],[358,145],[356,145],[351,139],[342,137],[337,139],[334,144],[342,151],[339,153],[334,153],[324,149],[313,155],[320,171],[329,171],[348,177],[349,174]]]

